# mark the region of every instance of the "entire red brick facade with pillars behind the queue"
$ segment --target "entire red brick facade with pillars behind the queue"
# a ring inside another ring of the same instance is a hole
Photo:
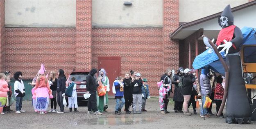
[[[0,71],[22,71],[24,79],[34,78],[41,63],[47,72],[63,69],[66,76],[73,69],[103,67],[111,76],[132,69],[149,80],[151,96],[158,96],[156,82],[165,70],[176,72],[187,60],[180,57],[188,47],[170,39],[179,27],[179,0],[163,0],[163,24],[156,28],[92,27],[92,0],[76,0],[73,28],[5,27],[5,0],[0,21]]]

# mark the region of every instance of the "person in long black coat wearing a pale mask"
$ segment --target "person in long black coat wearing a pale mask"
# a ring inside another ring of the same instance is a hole
[[[174,95],[173,95],[174,112],[178,112],[178,111],[183,112],[182,104],[183,104],[184,98],[183,98],[183,95],[181,94],[181,87],[179,87],[179,81],[181,80],[183,73],[184,73],[183,67],[179,67],[178,73],[174,74],[174,76],[172,77],[172,84],[175,85]]]

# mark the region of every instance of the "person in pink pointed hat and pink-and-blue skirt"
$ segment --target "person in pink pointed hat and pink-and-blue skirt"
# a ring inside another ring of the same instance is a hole
[[[49,81],[45,77],[44,72],[44,66],[41,65],[41,69],[39,70],[40,76],[36,80],[36,86],[34,87],[34,94],[32,97],[36,100],[36,110],[39,114],[47,113],[49,98],[53,98]]]

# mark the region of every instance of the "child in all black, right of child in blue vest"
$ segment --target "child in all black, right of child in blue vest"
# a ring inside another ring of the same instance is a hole
[[[125,113],[129,114],[131,111],[129,111],[129,106],[132,102],[132,85],[131,80],[129,79],[130,74],[127,72],[125,73],[125,78],[123,80],[124,82],[124,96],[125,96]]]

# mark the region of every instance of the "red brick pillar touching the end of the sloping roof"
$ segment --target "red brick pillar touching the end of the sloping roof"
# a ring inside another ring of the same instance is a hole
[[[179,40],[170,40],[169,34],[179,27],[179,0],[163,0],[163,67],[178,69]],[[174,91],[174,85],[173,85]]]

